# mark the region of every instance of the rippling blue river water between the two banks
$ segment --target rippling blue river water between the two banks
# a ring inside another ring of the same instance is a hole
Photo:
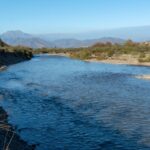
[[[37,150],[149,150],[150,67],[35,56],[0,73],[0,104]]]

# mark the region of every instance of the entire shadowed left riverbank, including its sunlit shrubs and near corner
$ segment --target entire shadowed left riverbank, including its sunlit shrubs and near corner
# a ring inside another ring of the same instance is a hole
[[[30,60],[32,57],[33,55],[30,49],[0,45],[0,71],[5,70],[9,65]],[[2,100],[2,98],[2,95],[0,95],[0,100]],[[8,115],[5,110],[0,107],[0,150],[34,149],[35,146],[30,146],[23,141],[13,127],[8,124]]]

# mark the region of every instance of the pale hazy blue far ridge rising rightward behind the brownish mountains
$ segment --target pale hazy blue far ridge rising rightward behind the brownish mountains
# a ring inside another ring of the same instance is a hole
[[[41,34],[36,35],[44,40],[53,41],[60,39],[78,39],[78,40],[91,40],[100,39],[103,37],[114,37],[121,39],[131,39],[133,41],[144,42],[150,41],[150,26],[139,27],[124,27],[107,30],[96,30],[91,32],[76,33],[76,34]]]

